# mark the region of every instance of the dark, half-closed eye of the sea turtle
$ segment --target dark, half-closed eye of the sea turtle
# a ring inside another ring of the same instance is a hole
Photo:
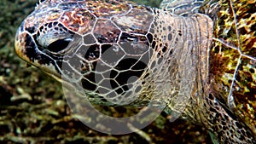
[[[50,52],[54,53],[63,53],[66,51],[68,44],[72,42],[72,40],[72,38],[58,39],[53,43],[49,43],[45,49],[48,49]]]

